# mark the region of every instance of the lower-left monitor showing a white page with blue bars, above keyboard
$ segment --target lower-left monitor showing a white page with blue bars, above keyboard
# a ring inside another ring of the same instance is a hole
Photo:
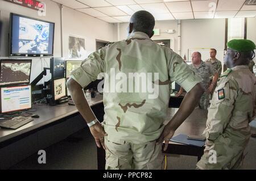
[[[32,107],[30,85],[1,87],[0,89],[2,113],[21,111]]]

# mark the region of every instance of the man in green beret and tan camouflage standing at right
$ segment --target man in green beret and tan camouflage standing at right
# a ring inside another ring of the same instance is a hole
[[[250,139],[249,123],[256,113],[256,79],[248,66],[254,49],[250,40],[228,43],[224,62],[229,69],[221,75],[213,94],[198,169],[238,169],[242,163]]]

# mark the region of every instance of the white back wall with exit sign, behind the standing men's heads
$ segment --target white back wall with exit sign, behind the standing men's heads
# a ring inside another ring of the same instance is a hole
[[[120,24],[120,39],[127,37],[128,23]],[[155,28],[160,29],[160,36],[152,39],[174,38],[174,51],[177,52],[178,26],[177,20],[156,21]],[[174,29],[175,33],[166,33],[166,30]],[[225,47],[225,19],[196,19],[181,20],[181,57],[190,48],[223,48]]]

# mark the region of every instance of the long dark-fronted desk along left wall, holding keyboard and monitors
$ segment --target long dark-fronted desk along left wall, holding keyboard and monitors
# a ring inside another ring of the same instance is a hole
[[[100,121],[104,116],[102,98],[97,95],[89,102]],[[87,126],[76,106],[68,103],[53,107],[34,105],[32,108],[37,109],[35,113],[39,118],[15,130],[0,128],[0,169],[8,169]]]

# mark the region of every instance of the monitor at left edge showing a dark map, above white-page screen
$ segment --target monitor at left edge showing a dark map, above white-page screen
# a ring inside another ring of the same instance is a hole
[[[0,86],[30,83],[32,60],[1,60]]]

